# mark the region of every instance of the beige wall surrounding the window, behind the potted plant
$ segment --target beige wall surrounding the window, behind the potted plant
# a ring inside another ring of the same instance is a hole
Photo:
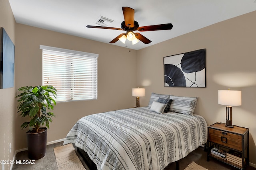
[[[137,51],[18,23],[15,58],[17,89],[42,85],[42,50],[39,45],[99,54],[98,99],[57,103],[54,107],[56,118],[53,118],[48,129],[48,142],[64,139],[83,116],[135,105],[132,88],[137,84]],[[16,117],[15,136],[16,141],[20,141],[16,143],[17,149],[26,148],[26,130],[20,130],[24,121]]]

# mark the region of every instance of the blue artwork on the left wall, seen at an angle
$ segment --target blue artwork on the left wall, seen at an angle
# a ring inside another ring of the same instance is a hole
[[[15,46],[3,27],[0,28],[0,89],[14,86]]]

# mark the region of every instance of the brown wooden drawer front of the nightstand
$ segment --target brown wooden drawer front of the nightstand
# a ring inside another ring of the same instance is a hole
[[[216,129],[209,129],[209,141],[242,151],[242,136]]]

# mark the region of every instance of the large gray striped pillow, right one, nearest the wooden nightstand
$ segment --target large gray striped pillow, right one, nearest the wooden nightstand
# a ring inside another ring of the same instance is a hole
[[[185,115],[193,115],[196,108],[197,97],[182,97],[182,96],[172,96],[169,111],[175,113],[182,113]]]

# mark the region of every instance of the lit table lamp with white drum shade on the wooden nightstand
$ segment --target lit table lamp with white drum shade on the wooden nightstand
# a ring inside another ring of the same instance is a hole
[[[232,125],[232,106],[242,105],[242,92],[239,90],[218,90],[218,104],[226,105],[226,127]]]

